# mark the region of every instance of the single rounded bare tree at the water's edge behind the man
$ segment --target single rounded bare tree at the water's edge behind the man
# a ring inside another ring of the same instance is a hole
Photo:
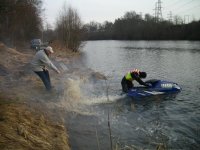
[[[81,28],[82,23],[77,11],[64,5],[56,23],[57,38],[66,48],[76,52],[81,45]]]

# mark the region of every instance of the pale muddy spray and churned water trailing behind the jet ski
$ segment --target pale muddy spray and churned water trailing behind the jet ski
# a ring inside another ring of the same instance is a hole
[[[119,94],[110,95],[105,80],[92,78],[94,72],[90,72],[81,77],[74,76],[73,78],[64,77],[59,88],[62,88],[62,92],[59,94],[59,100],[57,102],[50,102],[49,106],[56,106],[67,111],[73,111],[77,113],[87,113],[86,107],[93,105],[101,105],[107,103],[115,103],[124,96]],[[99,76],[99,73],[98,73]]]

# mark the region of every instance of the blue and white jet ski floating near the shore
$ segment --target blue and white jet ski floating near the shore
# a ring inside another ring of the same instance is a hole
[[[176,93],[180,92],[181,88],[178,86],[177,83],[164,81],[164,80],[157,80],[152,79],[146,81],[146,83],[151,84],[150,87],[133,87],[127,93],[130,97],[147,97],[153,95],[161,95],[161,94],[168,94],[168,93]]]

